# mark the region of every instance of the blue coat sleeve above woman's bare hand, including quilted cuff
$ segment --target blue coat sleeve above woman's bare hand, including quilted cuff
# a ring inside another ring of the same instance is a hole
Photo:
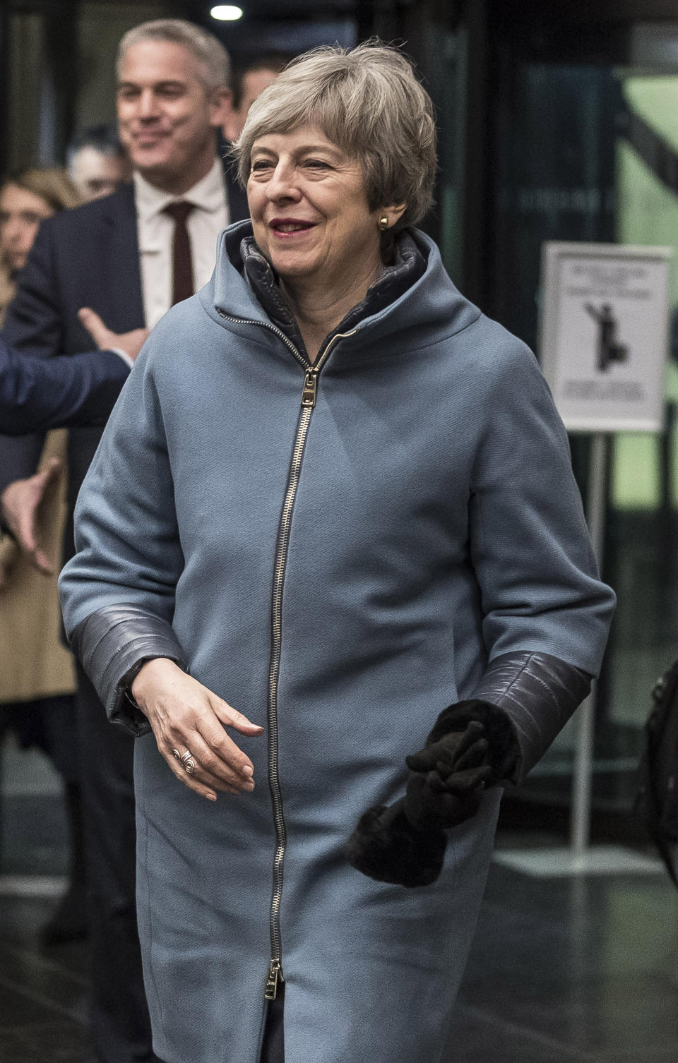
[[[172,474],[147,343],[103,433],[76,506],[59,586],[66,634],[114,722],[148,729],[127,684],[140,662],[185,667],[171,621],[183,570]]]

